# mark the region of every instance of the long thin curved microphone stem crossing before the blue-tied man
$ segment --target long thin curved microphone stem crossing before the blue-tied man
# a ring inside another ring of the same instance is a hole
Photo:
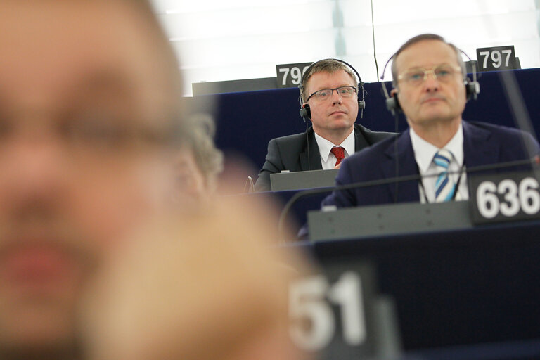
[[[535,155],[534,158],[530,159],[523,159],[523,160],[513,160],[508,162],[497,162],[494,164],[488,164],[488,165],[479,165],[475,167],[469,167],[467,169],[464,169],[461,167],[461,169],[453,172],[448,172],[448,174],[463,174],[463,172],[467,173],[474,173],[474,172],[484,172],[489,170],[495,170],[495,169],[505,169],[508,167],[520,167],[529,165],[531,166],[533,171],[536,171],[538,168],[538,165],[540,165],[540,155]],[[280,234],[280,243],[285,243],[285,237],[283,236],[283,225],[285,223],[285,219],[290,212],[291,207],[300,200],[301,198],[305,198],[307,196],[312,195],[319,195],[321,193],[330,193],[332,191],[342,191],[342,190],[352,190],[355,188],[366,188],[368,186],[379,186],[379,185],[386,185],[386,184],[399,184],[404,181],[421,181],[424,178],[428,177],[437,177],[438,174],[429,174],[429,175],[420,175],[420,174],[414,174],[414,175],[406,175],[406,176],[396,176],[392,178],[386,178],[386,179],[378,179],[378,180],[371,180],[371,181],[359,181],[351,184],[346,185],[338,185],[338,186],[327,186],[325,188],[314,188],[314,189],[307,189],[303,191],[299,191],[293,195],[288,202],[283,207],[283,210],[281,210],[281,214],[278,221],[278,233]],[[360,205],[361,206],[361,205]]]

